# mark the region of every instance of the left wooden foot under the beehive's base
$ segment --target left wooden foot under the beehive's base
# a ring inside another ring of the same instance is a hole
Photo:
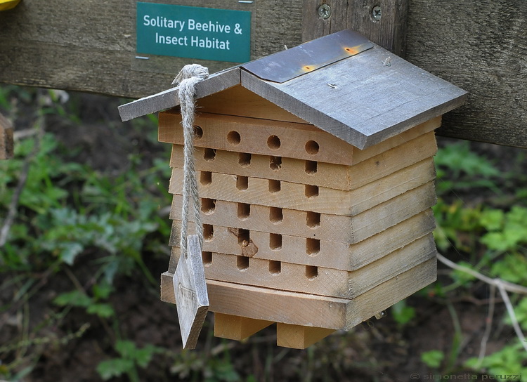
[[[214,313],[214,336],[241,341],[273,324],[271,321]]]

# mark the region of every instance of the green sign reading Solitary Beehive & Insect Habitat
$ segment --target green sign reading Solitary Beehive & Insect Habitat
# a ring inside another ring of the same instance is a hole
[[[138,2],[137,53],[247,62],[251,13]]]

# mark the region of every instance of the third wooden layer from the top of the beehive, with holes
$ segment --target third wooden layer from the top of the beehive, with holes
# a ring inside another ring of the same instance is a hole
[[[200,171],[198,189],[207,199],[354,216],[434,178],[429,158],[351,191],[207,171]],[[182,180],[183,170],[172,169],[171,194],[182,194]]]

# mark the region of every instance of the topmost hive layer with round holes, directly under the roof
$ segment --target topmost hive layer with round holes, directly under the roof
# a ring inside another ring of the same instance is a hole
[[[177,111],[161,112],[160,142],[183,145],[180,122],[181,114]],[[358,150],[310,124],[207,113],[198,114],[195,124],[199,126],[196,147],[353,165],[416,138],[417,133],[435,129],[441,118],[426,121],[418,129],[410,129],[411,133],[401,133],[365,150]]]

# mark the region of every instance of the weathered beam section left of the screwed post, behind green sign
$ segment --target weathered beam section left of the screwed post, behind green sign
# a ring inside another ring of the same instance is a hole
[[[167,0],[164,4],[252,12],[251,57],[301,43],[302,4],[295,1]],[[0,13],[0,81],[140,98],[170,87],[190,62],[218,72],[233,62],[151,56],[137,60],[136,1],[24,0]],[[254,31],[258,31],[257,33]],[[140,62],[139,62],[140,61]]]

